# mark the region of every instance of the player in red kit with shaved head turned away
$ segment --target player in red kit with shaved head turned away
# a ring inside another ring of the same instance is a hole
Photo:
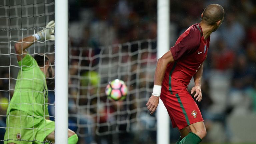
[[[146,106],[153,114],[159,97],[177,127],[181,137],[176,144],[198,144],[206,136],[201,112],[190,94],[202,100],[201,78],[203,62],[206,59],[210,34],[216,31],[224,19],[224,9],[218,4],[208,5],[201,14],[202,20],[190,26],[176,41],[175,45],[158,59],[153,94]],[[190,80],[194,77],[195,86],[189,93]]]

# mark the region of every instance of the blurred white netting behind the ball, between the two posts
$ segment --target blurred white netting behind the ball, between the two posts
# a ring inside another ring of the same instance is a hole
[[[69,61],[69,126],[76,127],[80,137],[156,130],[156,119],[145,106],[152,94],[156,40],[98,49],[72,47]],[[114,79],[128,87],[124,101],[111,101],[105,95],[107,83]]]

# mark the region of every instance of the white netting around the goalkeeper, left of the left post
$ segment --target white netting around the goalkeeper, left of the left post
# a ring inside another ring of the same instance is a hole
[[[6,110],[15,91],[17,74],[21,68],[17,64],[14,44],[42,30],[51,20],[54,20],[54,0],[0,1],[0,143],[4,141]],[[54,41],[36,42],[27,51],[30,55],[46,54],[54,64]],[[49,93],[53,93],[53,89],[49,88]],[[53,102],[48,103],[48,106],[53,106]],[[50,114],[50,117],[53,115]],[[21,140],[31,141],[22,138]]]

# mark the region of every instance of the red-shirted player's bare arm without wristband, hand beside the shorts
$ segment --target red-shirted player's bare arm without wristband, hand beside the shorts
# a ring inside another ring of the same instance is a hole
[[[198,69],[198,71],[194,75],[195,86],[191,89],[191,94],[196,92],[195,95],[194,95],[194,98],[196,98],[196,100],[199,101],[199,102],[203,98],[202,91],[201,91],[202,74],[203,74],[203,64],[201,65],[201,67]]]

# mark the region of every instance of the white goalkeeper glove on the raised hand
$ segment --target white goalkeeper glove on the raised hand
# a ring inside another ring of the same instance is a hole
[[[55,40],[54,35],[52,35],[54,33],[54,26],[55,23],[54,20],[52,20],[46,25],[46,28],[37,32],[33,36],[36,37],[38,41]]]

